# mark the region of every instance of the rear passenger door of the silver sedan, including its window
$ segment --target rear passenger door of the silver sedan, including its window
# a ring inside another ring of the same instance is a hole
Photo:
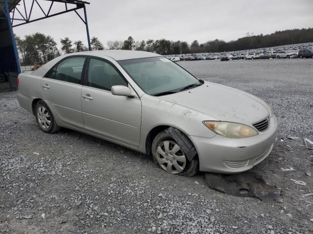
[[[86,57],[71,56],[57,63],[40,80],[41,92],[63,124],[84,128],[81,92]]]

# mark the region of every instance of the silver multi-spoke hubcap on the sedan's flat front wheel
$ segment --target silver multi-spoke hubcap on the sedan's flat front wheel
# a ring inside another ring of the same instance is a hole
[[[186,166],[186,156],[179,145],[171,140],[162,141],[156,148],[156,160],[167,172],[177,174]]]

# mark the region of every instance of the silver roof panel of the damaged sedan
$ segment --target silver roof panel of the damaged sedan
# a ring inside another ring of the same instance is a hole
[[[89,56],[96,56],[96,57],[111,57],[112,59],[118,60],[126,60],[126,59],[141,59],[141,58],[151,58],[151,57],[159,57],[156,53],[145,52],[145,51],[138,51],[138,50],[93,50],[93,51],[84,51],[84,52],[77,52],[72,54],[67,54],[68,56],[71,55],[89,55]]]

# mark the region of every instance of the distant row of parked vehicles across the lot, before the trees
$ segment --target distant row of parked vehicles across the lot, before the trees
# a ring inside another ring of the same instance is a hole
[[[237,54],[187,54],[167,56],[166,58],[172,61],[194,61],[194,60],[214,60],[221,59],[221,61],[232,59],[295,59],[295,58],[313,58],[313,49],[300,50],[282,50],[282,51],[262,51],[262,52],[247,52]]]

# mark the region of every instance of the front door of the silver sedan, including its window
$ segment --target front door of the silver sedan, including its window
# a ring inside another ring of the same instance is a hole
[[[83,86],[81,95],[85,130],[138,147],[140,99],[112,95],[113,85],[128,86],[128,82],[106,60],[91,58],[87,74],[87,86]]]

